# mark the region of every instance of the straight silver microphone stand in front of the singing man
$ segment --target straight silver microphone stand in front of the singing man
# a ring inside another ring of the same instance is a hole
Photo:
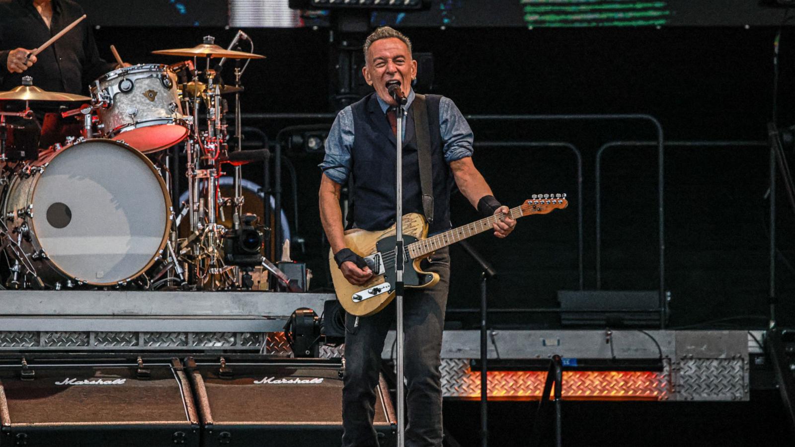
[[[405,445],[405,390],[404,390],[404,334],[403,334],[403,266],[405,263],[403,247],[403,104],[397,100],[395,111],[397,131],[395,132],[395,312],[397,313],[397,447]]]

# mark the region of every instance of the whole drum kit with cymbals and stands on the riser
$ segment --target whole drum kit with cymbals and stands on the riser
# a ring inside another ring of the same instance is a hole
[[[118,68],[94,81],[91,97],[43,91],[29,77],[11,91],[0,91],[0,105],[25,103],[23,111],[0,111],[0,250],[10,269],[6,287],[250,288],[254,262],[235,262],[234,253],[227,253],[236,250],[235,244],[225,239],[244,234],[241,223],[250,228],[254,221],[243,215],[240,165],[264,154],[246,157],[229,149],[230,138],[236,138],[236,151],[242,146],[239,95],[246,66],[235,67],[235,85],[227,87],[211,59],[223,58],[223,65],[226,59],[264,56],[223,49],[212,37],[193,48],[153,53],[189,59]],[[234,136],[227,134],[222,99],[227,94],[237,99]],[[82,107],[60,114],[82,128],[80,136],[39,148],[38,126],[25,125],[35,122],[30,104],[80,101]],[[16,117],[14,123],[10,116]],[[161,156],[183,147],[184,166],[169,166],[171,157]],[[220,194],[227,162],[235,170],[232,197]],[[180,168],[188,177],[188,199],[177,214],[170,197]],[[234,213],[231,228],[221,223],[224,206]],[[176,231],[183,218],[187,237]],[[254,228],[259,238],[252,240],[248,233],[238,239],[248,249],[247,259],[254,255],[260,265],[266,228]],[[272,267],[265,258],[262,263]]]

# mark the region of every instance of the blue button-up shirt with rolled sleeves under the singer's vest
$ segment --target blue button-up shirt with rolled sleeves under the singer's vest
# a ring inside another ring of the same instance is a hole
[[[390,105],[384,102],[381,97],[378,98],[378,105],[386,115],[387,109]],[[409,107],[414,101],[413,89],[409,91],[409,97],[404,108],[408,111]],[[386,119],[386,118],[385,118]],[[405,123],[403,120],[403,135],[405,137]],[[442,96],[439,102],[439,130],[442,137],[444,147],[444,161],[448,164],[451,161],[460,160],[463,157],[471,157],[474,150],[472,150],[472,142],[474,135],[469,127],[467,120],[463,118],[461,112],[456,107],[456,104],[451,99]],[[320,163],[320,169],[332,181],[344,184],[348,176],[351,174],[351,150],[353,149],[354,142],[354,125],[353,125],[353,111],[351,106],[345,107],[337,114],[332,124],[332,129],[328,132],[326,138],[326,157]]]

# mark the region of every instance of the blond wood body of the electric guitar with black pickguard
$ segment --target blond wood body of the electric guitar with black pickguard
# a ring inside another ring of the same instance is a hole
[[[358,228],[345,231],[345,245],[357,255],[366,258],[377,253],[388,254],[395,248],[395,226],[384,231],[366,231]],[[417,213],[403,216],[404,245],[425,239],[428,235],[428,224],[425,218]],[[425,258],[425,257],[423,257]],[[409,259],[403,270],[405,287],[431,287],[439,282],[439,274],[420,270],[423,258]],[[363,286],[355,286],[345,279],[334,261],[334,254],[329,252],[329,268],[332,271],[334,290],[343,309],[356,317],[366,317],[378,313],[395,297],[394,263],[384,269],[383,274],[374,275]],[[371,270],[372,267],[371,267]],[[387,286],[388,285],[388,286]]]

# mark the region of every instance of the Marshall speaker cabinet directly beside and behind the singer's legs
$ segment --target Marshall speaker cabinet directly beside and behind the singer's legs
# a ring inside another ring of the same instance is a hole
[[[196,391],[202,445],[341,444],[340,360],[240,356],[188,358],[185,363]],[[383,378],[376,396],[374,426],[380,444],[394,445],[394,409]]]

